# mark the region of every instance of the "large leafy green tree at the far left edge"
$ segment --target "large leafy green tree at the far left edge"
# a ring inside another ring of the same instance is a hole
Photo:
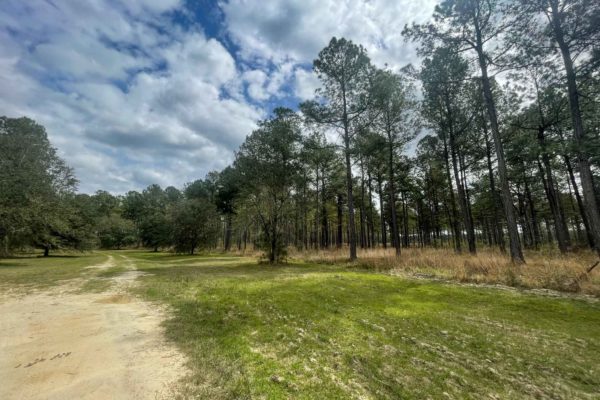
[[[57,155],[46,130],[29,118],[0,117],[1,251],[34,246],[70,247],[66,199],[77,186],[73,170]]]

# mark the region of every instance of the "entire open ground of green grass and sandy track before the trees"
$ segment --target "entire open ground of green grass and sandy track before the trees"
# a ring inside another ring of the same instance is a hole
[[[0,385],[0,398],[35,398],[23,390],[32,390],[37,373],[38,390],[48,390],[42,398],[69,398],[59,391],[95,376],[113,380],[98,390],[125,390],[105,398],[152,398],[162,389],[205,399],[600,393],[600,302],[593,297],[409,279],[349,264],[109,255],[79,257],[101,269],[71,259],[70,267],[58,258],[0,261],[0,381],[9,383]],[[95,318],[85,334],[69,333],[78,329],[76,315]],[[88,335],[101,335],[100,347],[86,350]],[[70,369],[61,367],[76,356]]]

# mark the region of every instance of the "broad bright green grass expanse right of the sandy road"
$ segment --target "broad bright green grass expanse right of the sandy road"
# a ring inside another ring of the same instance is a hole
[[[355,266],[128,252],[169,304],[181,398],[593,399],[600,304]]]

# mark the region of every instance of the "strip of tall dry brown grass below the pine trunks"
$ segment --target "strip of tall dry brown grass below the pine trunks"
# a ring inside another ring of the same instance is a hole
[[[348,250],[295,252],[292,256],[317,263],[348,263]],[[358,251],[356,265],[392,274],[456,280],[477,284],[552,289],[600,296],[600,266],[586,273],[598,257],[590,251],[561,255],[558,251],[526,251],[527,264],[515,266],[507,255],[481,249],[477,255],[452,249],[408,248],[396,257],[393,249]]]

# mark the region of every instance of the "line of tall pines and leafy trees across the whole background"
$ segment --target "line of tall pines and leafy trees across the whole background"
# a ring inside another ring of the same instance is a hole
[[[517,264],[523,248],[600,254],[600,4],[444,0],[431,21],[403,30],[418,68],[378,68],[333,38],[313,63],[314,99],[276,108],[231,166],[181,190],[76,194],[43,128],[2,119],[3,251],[251,244],[273,263],[289,246],[347,246],[352,260],[358,247],[490,246]]]

